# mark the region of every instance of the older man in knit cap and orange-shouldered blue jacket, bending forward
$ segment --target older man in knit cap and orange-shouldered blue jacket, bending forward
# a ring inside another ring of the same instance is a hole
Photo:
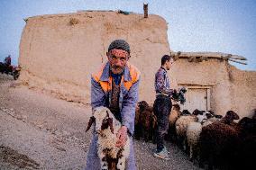
[[[106,53],[106,62],[91,78],[91,105],[92,109],[105,106],[114,113],[114,117],[122,123],[116,136],[116,147],[123,147],[126,135],[130,137],[130,157],[126,164],[127,170],[136,169],[133,153],[133,130],[135,105],[138,100],[140,72],[128,60],[130,46],[125,40],[114,40]],[[87,170],[99,170],[100,160],[97,157],[97,138],[93,139],[87,155]]]

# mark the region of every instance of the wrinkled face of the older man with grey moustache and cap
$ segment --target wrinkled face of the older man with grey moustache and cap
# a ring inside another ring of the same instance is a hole
[[[110,63],[110,69],[114,74],[121,74],[130,55],[123,49],[111,49],[106,53]]]

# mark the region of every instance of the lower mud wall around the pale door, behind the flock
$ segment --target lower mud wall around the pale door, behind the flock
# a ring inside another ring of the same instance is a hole
[[[256,109],[255,71],[242,71],[215,58],[203,62],[179,58],[172,72],[169,76],[175,76],[179,86],[210,86],[211,109],[218,114],[233,110],[240,117],[251,117]]]

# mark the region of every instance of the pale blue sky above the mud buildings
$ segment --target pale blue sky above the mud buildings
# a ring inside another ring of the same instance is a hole
[[[224,52],[248,59],[242,70],[256,70],[255,0],[0,0],[0,61],[19,58],[24,18],[78,10],[123,10],[158,14],[168,22],[171,50]]]

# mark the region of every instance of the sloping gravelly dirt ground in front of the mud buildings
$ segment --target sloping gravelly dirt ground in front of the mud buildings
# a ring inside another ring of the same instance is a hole
[[[12,76],[0,74],[0,169],[84,169],[90,114],[90,105],[15,85]],[[152,157],[155,145],[133,143],[139,170],[199,169],[171,143],[169,161]]]

